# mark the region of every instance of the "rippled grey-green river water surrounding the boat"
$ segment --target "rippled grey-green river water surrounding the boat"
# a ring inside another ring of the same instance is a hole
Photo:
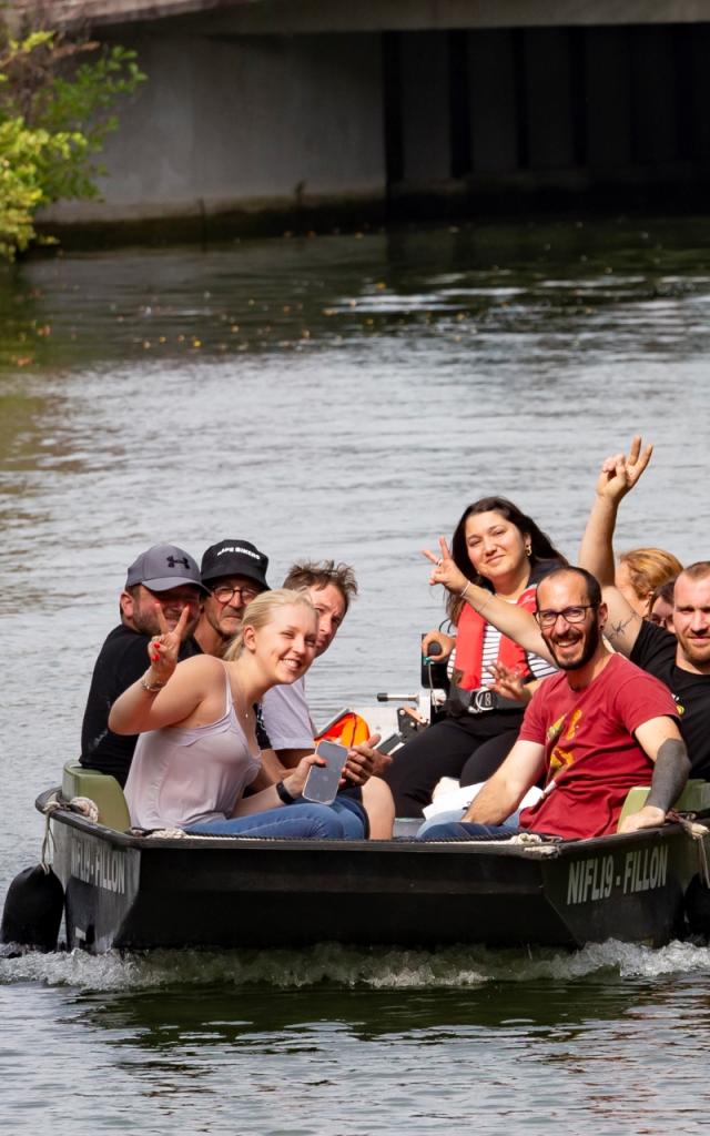
[[[708,556],[710,223],[399,229],[35,260],[0,275],[0,899],[77,752],[148,544],[351,562],[316,718],[417,686],[419,554],[502,492],[574,558],[601,459],[652,467],[618,545]],[[368,1136],[707,1126],[710,951],[0,958],[12,1133]]]

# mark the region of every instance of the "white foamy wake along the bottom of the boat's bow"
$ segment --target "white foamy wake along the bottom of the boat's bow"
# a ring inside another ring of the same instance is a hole
[[[433,951],[348,947],[325,943],[303,950],[83,951],[0,955],[0,985],[42,984],[82,991],[161,987],[312,986],[369,989],[445,989],[486,983],[558,982],[602,977],[659,978],[710,972],[710,947],[674,942],[660,950],[609,941],[566,953],[550,949],[490,950],[452,946]]]

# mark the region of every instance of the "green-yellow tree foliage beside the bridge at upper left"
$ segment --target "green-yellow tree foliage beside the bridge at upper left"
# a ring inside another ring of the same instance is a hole
[[[35,231],[37,209],[99,195],[114,107],[144,78],[126,48],[51,30],[14,39],[0,17],[0,257],[51,240]]]

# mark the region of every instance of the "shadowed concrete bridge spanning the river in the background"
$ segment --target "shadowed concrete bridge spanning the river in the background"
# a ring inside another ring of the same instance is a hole
[[[105,200],[62,203],[55,222],[206,239],[318,215],[677,203],[710,181],[708,0],[53,0],[51,14],[134,47],[149,75],[120,111]]]

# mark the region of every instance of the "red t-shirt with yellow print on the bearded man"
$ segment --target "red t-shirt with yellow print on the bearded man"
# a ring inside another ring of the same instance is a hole
[[[569,838],[616,832],[629,788],[653,775],[634,732],[662,717],[678,717],[668,687],[619,654],[583,691],[563,671],[545,679],[518,736],[544,745],[548,792],[520,826]]]

